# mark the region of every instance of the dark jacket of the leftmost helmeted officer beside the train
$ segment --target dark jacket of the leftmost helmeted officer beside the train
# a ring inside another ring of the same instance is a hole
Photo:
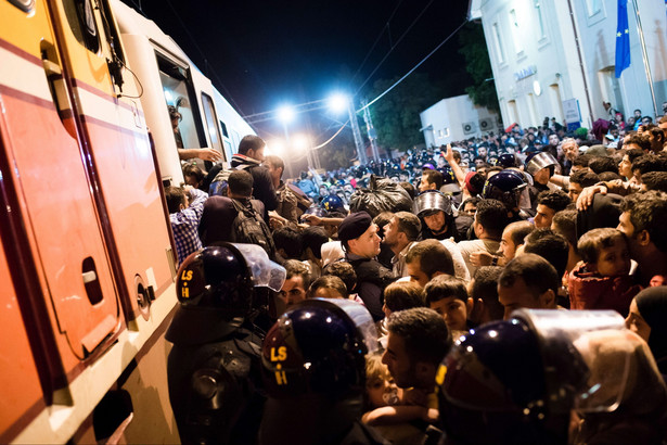
[[[266,402],[261,338],[259,330],[244,325],[207,343],[170,339],[175,344],[167,360],[169,402],[182,444],[255,443]],[[193,387],[195,377],[202,374],[216,377],[210,398]]]

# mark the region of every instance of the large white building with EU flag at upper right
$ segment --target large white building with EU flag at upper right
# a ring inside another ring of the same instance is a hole
[[[581,125],[607,114],[604,102],[626,118],[634,109],[662,115],[667,101],[667,18],[664,0],[627,0],[631,63],[616,78],[617,2],[614,0],[471,0],[480,18],[504,126],[563,122]],[[647,80],[637,5],[645,41]],[[655,99],[655,100],[654,100]],[[578,105],[578,106],[577,106]],[[566,114],[568,116],[566,116]]]

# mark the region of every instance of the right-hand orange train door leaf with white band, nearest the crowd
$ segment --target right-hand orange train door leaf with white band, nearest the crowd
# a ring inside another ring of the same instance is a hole
[[[151,303],[172,285],[168,220],[155,171],[141,80],[126,68],[106,0],[50,1],[85,141],[89,175],[121,307],[130,329],[150,319]],[[176,300],[172,301],[171,306]]]

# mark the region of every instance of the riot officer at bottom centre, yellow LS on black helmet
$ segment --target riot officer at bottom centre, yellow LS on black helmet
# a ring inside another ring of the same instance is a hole
[[[364,357],[377,348],[373,318],[358,303],[311,298],[290,308],[262,345],[268,400],[259,443],[386,443],[359,421]]]

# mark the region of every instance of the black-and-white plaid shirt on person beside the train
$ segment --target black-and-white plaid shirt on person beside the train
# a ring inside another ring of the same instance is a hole
[[[200,219],[202,219],[204,201],[208,198],[208,193],[197,189],[190,190],[190,193],[194,195],[194,201],[192,201],[190,207],[169,215],[174,239],[176,240],[177,267],[181,265],[188,255],[202,249],[197,227],[200,226]]]

